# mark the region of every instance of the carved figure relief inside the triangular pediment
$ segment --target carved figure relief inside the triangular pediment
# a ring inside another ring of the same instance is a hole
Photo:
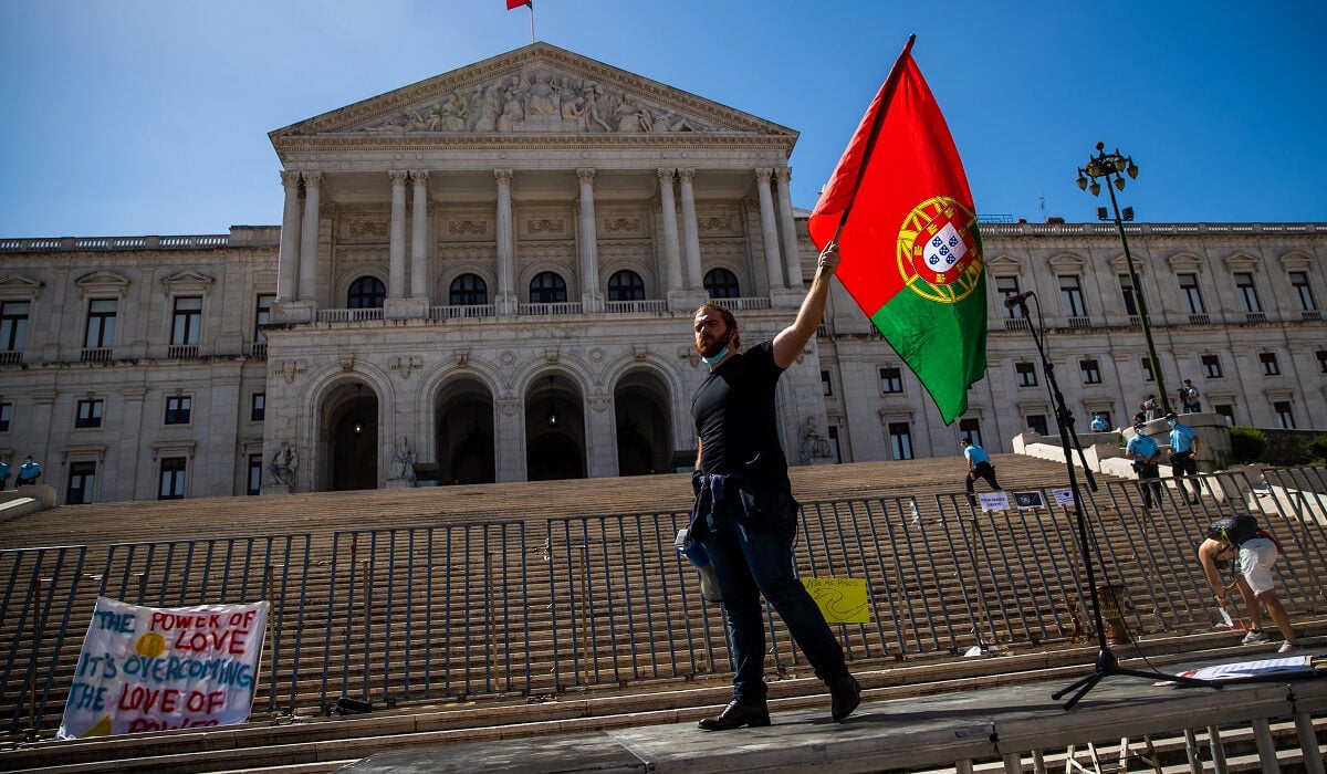
[[[722,131],[618,89],[536,66],[496,81],[456,89],[352,131]]]

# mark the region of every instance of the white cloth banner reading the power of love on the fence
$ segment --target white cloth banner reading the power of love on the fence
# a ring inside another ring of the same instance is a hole
[[[248,721],[268,603],[139,607],[97,597],[61,739]]]

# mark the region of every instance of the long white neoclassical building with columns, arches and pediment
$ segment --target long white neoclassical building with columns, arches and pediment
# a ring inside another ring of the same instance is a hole
[[[685,467],[691,311],[719,297],[758,341],[815,263],[795,130],[543,42],[269,137],[280,226],[0,239],[0,459],[33,454],[61,502]],[[795,465],[1054,433],[1007,293],[1036,293],[1074,412],[1119,425],[1157,392],[1112,224],[981,231],[967,414],[945,426],[836,288],[780,382]],[[1327,427],[1327,224],[1128,232],[1169,390]]]

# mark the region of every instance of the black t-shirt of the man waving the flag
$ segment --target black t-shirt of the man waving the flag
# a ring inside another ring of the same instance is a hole
[[[780,374],[772,341],[734,354],[710,372],[691,397],[702,473],[738,473],[756,455],[763,466],[787,467],[774,405]]]

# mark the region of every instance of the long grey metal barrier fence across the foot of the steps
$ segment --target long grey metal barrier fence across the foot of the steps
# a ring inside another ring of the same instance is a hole
[[[1084,490],[1097,587],[1119,591],[1133,632],[1220,623],[1194,550],[1229,512],[1255,514],[1282,542],[1277,588],[1292,616],[1327,605],[1323,469],[1196,483],[1198,504],[1168,479],[1151,508],[1135,481]],[[1054,490],[1007,494],[1010,510],[986,512],[963,494],[803,504],[799,572],[867,581],[869,623],[836,625],[852,662],[1093,633],[1072,508]],[[257,714],[727,673],[722,607],[701,597],[673,546],[687,518],[551,518],[543,535],[515,520],[356,530],[329,546],[308,534],[125,543],[109,547],[96,587],[80,583],[84,547],[0,551],[11,637],[0,712],[11,734],[58,725],[44,718],[62,708],[53,688],[68,684],[97,593],[157,607],[269,600]],[[766,620],[772,669],[804,669],[783,621]]]

